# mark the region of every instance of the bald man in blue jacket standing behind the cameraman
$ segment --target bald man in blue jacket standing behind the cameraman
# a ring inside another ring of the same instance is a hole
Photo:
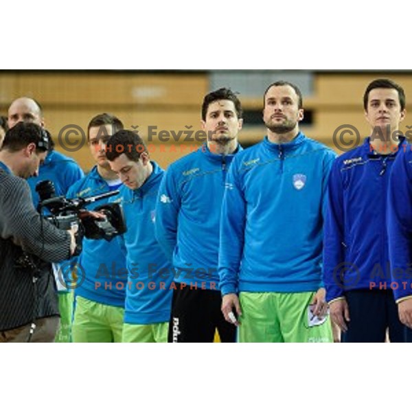
[[[34,123],[45,128],[45,119],[41,104],[36,100],[21,97],[12,102],[8,109],[8,127],[12,128],[17,123]],[[41,181],[52,181],[56,189],[56,196],[65,196],[69,187],[82,179],[84,173],[80,166],[65,155],[54,150],[54,142],[50,139],[47,157],[39,170],[38,176],[27,180],[32,190],[34,205],[37,207],[39,198],[36,192],[36,185]],[[49,268],[52,271],[52,268]],[[58,302],[60,310],[60,329],[56,334],[56,342],[68,343],[71,341],[71,319],[73,317],[73,293],[67,290],[58,279],[58,265],[53,265],[53,272],[56,277],[58,289]]]

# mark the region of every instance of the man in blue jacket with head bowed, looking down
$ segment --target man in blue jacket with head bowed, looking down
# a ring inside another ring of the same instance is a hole
[[[167,343],[175,286],[172,268],[155,236],[156,201],[164,172],[150,161],[144,141],[129,130],[111,137],[107,157],[124,183],[128,282],[122,341]]]

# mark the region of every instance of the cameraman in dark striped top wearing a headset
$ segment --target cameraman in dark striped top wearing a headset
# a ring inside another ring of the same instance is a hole
[[[52,342],[58,329],[54,277],[39,273],[74,253],[75,231],[43,220],[23,180],[38,174],[48,147],[40,126],[19,123],[0,151],[0,342]]]

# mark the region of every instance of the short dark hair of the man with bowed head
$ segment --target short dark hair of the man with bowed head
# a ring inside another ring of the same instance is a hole
[[[108,161],[115,161],[117,157],[126,155],[129,160],[139,161],[142,153],[148,153],[143,139],[131,130],[120,130],[106,143],[106,157]]]

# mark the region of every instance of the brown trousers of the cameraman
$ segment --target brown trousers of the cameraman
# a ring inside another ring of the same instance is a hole
[[[38,319],[35,322],[36,329],[30,339],[32,323],[21,328],[0,332],[0,343],[52,343],[60,325],[60,317],[52,316]]]

